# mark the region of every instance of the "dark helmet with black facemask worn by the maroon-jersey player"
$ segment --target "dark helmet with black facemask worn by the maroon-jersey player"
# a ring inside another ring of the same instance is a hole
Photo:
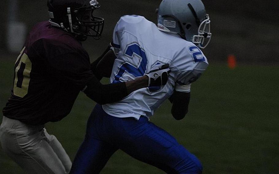
[[[74,33],[79,41],[87,36],[100,39],[104,27],[104,19],[93,15],[100,8],[97,0],[48,0],[50,24],[67,32]]]

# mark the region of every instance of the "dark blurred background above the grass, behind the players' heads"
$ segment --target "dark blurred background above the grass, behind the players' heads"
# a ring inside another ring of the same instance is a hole
[[[160,2],[160,0],[99,0],[101,9],[96,10],[96,15],[105,18],[105,29],[101,40],[95,41],[90,38],[84,43],[89,54],[101,53],[111,40],[114,25],[124,14],[143,15],[156,23],[155,9],[159,7]],[[245,64],[279,62],[278,1],[204,0],[203,2],[211,19],[212,40],[204,50],[210,62],[224,62],[229,54],[234,54],[238,62]],[[2,54],[7,54],[8,3],[9,1],[4,1],[0,7]],[[46,0],[19,0],[17,20],[24,22],[28,30],[36,22],[48,20]]]

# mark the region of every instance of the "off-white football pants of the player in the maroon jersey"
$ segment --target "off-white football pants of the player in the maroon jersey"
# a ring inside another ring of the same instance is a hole
[[[28,173],[66,173],[57,154],[49,145],[43,127],[28,126],[18,120],[1,126],[3,150]]]

